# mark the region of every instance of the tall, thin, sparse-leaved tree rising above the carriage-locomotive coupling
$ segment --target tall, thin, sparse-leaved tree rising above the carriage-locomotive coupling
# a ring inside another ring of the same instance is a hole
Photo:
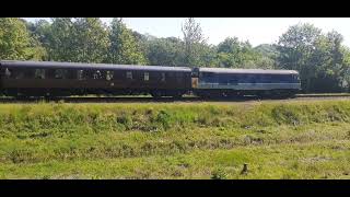
[[[185,43],[185,59],[184,62],[194,67],[200,62],[200,53],[206,46],[206,39],[202,35],[199,23],[196,23],[194,18],[188,18],[182,26]]]

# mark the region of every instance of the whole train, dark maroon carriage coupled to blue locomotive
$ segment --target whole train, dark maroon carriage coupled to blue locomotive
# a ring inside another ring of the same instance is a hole
[[[14,97],[291,97],[300,91],[295,70],[0,60],[0,94]]]

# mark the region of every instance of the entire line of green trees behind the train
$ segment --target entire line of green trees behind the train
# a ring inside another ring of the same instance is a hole
[[[209,45],[200,24],[189,18],[179,26],[182,38],[143,35],[121,19],[109,25],[98,18],[55,18],[36,23],[0,19],[0,59],[104,62],[122,65],[293,69],[304,92],[348,92],[350,49],[332,31],[296,24],[277,44],[253,47],[228,37]]]

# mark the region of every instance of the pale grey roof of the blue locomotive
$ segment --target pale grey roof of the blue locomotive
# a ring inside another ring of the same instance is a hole
[[[201,72],[214,73],[265,73],[265,74],[298,74],[295,70],[264,70],[264,69],[229,69],[229,68],[199,68]]]

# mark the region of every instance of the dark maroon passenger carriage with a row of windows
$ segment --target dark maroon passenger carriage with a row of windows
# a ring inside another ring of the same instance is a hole
[[[190,73],[182,67],[0,61],[0,89],[10,96],[180,96],[191,88]]]

